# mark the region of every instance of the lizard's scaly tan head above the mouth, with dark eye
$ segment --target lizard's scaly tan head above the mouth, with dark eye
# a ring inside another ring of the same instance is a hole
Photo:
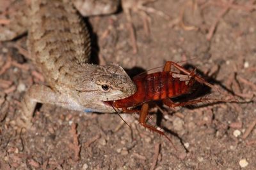
[[[87,99],[89,96],[92,101],[124,99],[137,90],[124,69],[116,64],[93,66],[93,71],[85,76],[87,78],[83,81],[83,86],[77,84],[76,90],[79,92],[78,96]]]

